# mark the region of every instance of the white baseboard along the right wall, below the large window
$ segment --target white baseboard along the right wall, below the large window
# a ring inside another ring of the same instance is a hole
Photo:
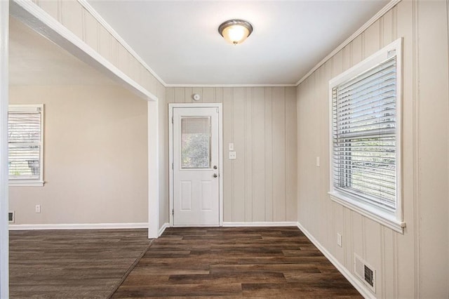
[[[332,263],[338,271],[340,271],[340,273],[343,274],[344,277],[346,277],[346,279],[349,281],[349,283],[352,284],[352,286],[354,286],[354,288],[356,288],[356,290],[358,292],[361,293],[361,295],[363,295],[364,298],[370,298],[370,299],[375,299],[375,295],[373,295],[373,293],[371,293],[364,285],[363,283],[354,276],[354,274],[352,274],[349,270],[347,270],[346,267],[344,267],[344,265],[342,265],[342,263],[340,263],[337,258],[335,258],[335,256],[333,256],[323,245],[320,244],[320,242],[318,240],[316,240],[314,238],[314,236],[312,236],[309,231],[307,231],[300,222],[296,223],[297,227],[301,230],[301,232],[303,232],[307,238],[309,238],[309,240],[316,246],[316,248],[319,248],[319,251],[321,251],[321,253],[323,253],[324,256],[326,256],[326,258],[328,258],[328,260],[330,260],[330,263]]]

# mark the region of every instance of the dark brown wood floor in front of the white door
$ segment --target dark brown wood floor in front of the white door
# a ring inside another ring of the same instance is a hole
[[[297,227],[169,228],[113,298],[361,298]]]

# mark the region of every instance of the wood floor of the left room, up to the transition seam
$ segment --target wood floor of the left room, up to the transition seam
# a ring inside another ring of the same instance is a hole
[[[147,230],[10,232],[10,298],[108,298],[150,244]]]

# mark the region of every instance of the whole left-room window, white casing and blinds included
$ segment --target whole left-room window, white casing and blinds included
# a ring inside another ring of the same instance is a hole
[[[43,186],[43,105],[9,105],[10,186]]]

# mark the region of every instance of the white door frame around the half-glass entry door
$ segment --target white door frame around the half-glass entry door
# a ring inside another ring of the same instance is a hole
[[[218,109],[218,217],[219,225],[223,226],[223,116],[222,103],[170,103],[168,104],[168,211],[170,227],[173,227],[173,109],[174,108],[217,108]]]

